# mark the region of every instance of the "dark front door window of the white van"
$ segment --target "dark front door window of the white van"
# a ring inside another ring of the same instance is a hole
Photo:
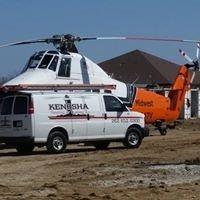
[[[107,112],[122,112],[127,111],[126,107],[115,97],[113,96],[104,96],[104,102]]]

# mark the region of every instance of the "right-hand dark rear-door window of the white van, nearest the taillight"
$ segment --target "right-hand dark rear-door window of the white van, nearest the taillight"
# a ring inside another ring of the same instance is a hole
[[[15,98],[14,114],[27,114],[28,113],[27,108],[28,108],[27,97],[18,96]]]

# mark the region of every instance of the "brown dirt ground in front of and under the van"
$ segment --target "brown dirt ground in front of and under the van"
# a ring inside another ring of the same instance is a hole
[[[200,120],[166,136],[151,131],[139,149],[69,145],[60,155],[0,150],[0,199],[200,199]]]

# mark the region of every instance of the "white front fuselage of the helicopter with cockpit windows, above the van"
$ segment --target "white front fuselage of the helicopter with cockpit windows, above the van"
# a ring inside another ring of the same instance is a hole
[[[6,85],[113,84],[113,94],[127,98],[127,85],[111,78],[96,63],[78,53],[45,51],[34,54],[20,75]]]

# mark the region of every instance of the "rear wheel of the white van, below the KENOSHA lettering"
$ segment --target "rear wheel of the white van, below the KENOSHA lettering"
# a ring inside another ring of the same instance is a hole
[[[47,151],[49,153],[63,153],[67,146],[67,138],[61,131],[53,131],[47,139]]]

